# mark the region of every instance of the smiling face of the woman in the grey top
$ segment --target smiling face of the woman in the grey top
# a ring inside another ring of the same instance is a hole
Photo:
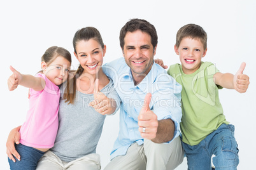
[[[76,53],[79,63],[83,67],[83,73],[95,75],[103,65],[103,56],[106,53],[106,46],[101,48],[101,44],[94,39],[89,41],[78,41],[76,44]]]

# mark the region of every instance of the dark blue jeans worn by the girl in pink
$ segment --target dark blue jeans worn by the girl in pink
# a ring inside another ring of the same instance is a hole
[[[15,148],[18,154],[20,154],[20,161],[15,158],[16,162],[13,162],[8,158],[11,170],[34,170],[36,169],[38,160],[45,154],[45,152],[22,144],[15,144]]]

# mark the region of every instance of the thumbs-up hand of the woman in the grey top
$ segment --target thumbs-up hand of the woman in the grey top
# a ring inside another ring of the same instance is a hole
[[[99,91],[99,79],[96,79],[94,87],[94,101],[89,105],[93,107],[99,114],[112,114],[117,108],[117,103],[113,98],[108,98],[104,93]]]

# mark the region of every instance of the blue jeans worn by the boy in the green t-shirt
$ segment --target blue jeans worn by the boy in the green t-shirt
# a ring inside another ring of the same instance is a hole
[[[182,142],[187,156],[188,169],[211,169],[211,156],[215,169],[236,169],[239,164],[238,144],[234,138],[234,126],[222,124],[198,145]]]

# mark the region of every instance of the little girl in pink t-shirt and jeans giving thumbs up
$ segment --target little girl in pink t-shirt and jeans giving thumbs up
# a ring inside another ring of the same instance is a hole
[[[41,57],[41,69],[35,76],[20,74],[10,67],[10,91],[18,85],[30,88],[29,110],[20,128],[20,144],[15,145],[22,160],[13,162],[11,169],[36,169],[41,156],[54,145],[59,119],[59,86],[69,77],[71,55],[68,50],[52,46]]]

